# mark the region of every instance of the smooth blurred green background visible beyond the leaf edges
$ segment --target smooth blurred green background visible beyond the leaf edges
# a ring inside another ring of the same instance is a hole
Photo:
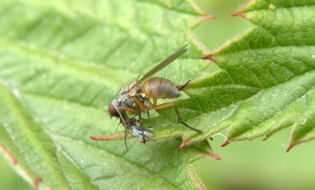
[[[252,27],[246,20],[230,16],[246,0],[194,1],[202,11],[216,16],[193,29],[210,52]],[[226,132],[222,134],[225,136]],[[290,128],[287,128],[264,142],[261,138],[221,148],[224,137],[216,135],[210,144],[222,160],[198,160],[194,168],[208,189],[315,189],[314,142],[298,145],[285,153],[289,138]],[[2,157],[0,171],[0,190],[33,189]]]

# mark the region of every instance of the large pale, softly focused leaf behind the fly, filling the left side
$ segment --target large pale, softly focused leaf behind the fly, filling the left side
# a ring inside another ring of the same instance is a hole
[[[96,142],[115,132],[106,104],[144,68],[189,43],[163,72],[182,84],[209,73],[190,28],[211,15],[190,1],[2,0],[0,152],[23,178],[52,189],[200,189],[191,163],[208,141]],[[180,64],[181,63],[181,64]],[[160,75],[161,73],[158,73]]]

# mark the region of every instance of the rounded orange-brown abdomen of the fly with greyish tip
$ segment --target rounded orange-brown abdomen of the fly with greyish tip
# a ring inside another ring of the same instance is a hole
[[[180,92],[168,79],[152,78],[146,80],[141,86],[141,92],[146,98],[178,98]]]

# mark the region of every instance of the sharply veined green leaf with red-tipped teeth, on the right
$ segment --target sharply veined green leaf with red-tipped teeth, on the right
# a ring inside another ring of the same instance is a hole
[[[202,134],[168,124],[156,139],[183,135],[181,148],[228,129],[233,141],[265,137],[292,127],[294,145],[314,131],[315,1],[252,1],[232,16],[256,26],[204,56],[222,71],[194,81],[176,101],[184,120]],[[172,110],[166,111],[164,118]],[[185,130],[185,131],[184,131]],[[184,133],[184,134],[183,134]]]

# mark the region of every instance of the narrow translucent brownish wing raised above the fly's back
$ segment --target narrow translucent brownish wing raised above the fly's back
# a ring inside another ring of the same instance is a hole
[[[185,53],[187,51],[187,49],[184,49],[186,46],[188,46],[188,44],[186,44],[184,47],[182,47],[180,50],[178,50],[176,53],[174,53],[173,55],[169,56],[168,58],[166,58],[164,61],[160,62],[157,66],[155,66],[154,68],[152,68],[148,73],[146,73],[127,93],[127,95],[129,95],[130,92],[135,90],[135,87],[138,86],[139,84],[141,84],[143,81],[145,81],[146,79],[148,79],[149,77],[151,77],[153,74],[157,73],[158,71],[160,71],[162,68],[166,67],[167,65],[169,65],[169,63],[173,62],[175,59],[177,59],[178,57],[180,57],[183,53]]]

